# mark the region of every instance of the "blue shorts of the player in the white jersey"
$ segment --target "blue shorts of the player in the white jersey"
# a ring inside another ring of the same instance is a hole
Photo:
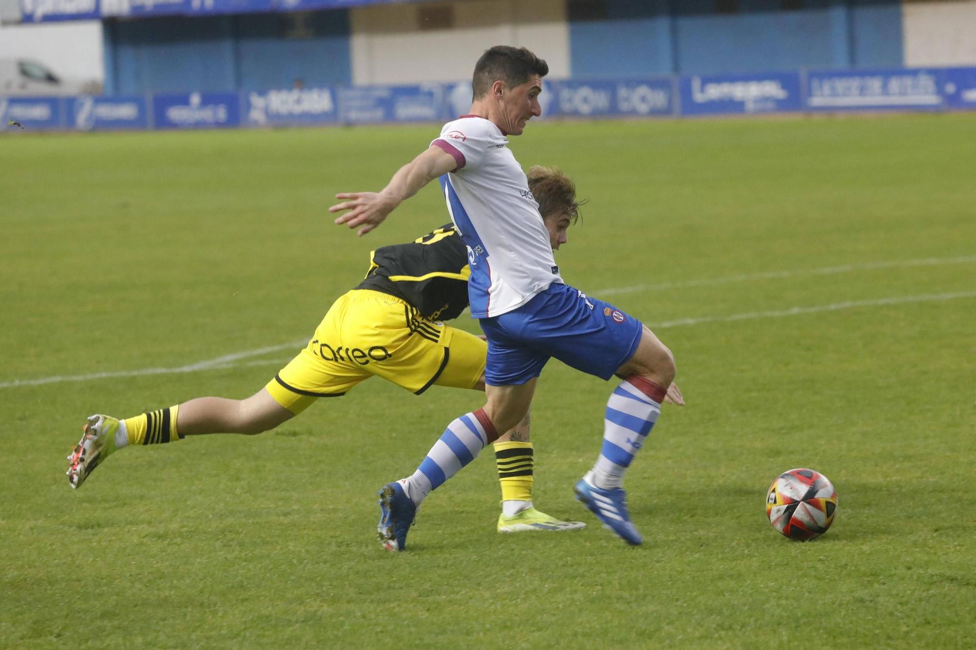
[[[608,380],[633,356],[643,331],[636,318],[565,284],[550,285],[525,305],[480,322],[488,338],[490,386],[525,384],[553,356]]]

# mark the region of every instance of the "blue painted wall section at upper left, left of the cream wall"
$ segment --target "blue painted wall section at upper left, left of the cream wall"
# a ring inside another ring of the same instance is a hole
[[[315,12],[305,37],[285,14],[105,21],[105,92],[237,91],[348,84],[346,10]]]

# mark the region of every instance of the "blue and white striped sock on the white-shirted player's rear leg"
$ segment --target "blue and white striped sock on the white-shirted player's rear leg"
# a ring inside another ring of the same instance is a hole
[[[458,473],[497,439],[498,432],[484,409],[466,413],[447,426],[417,471],[401,478],[400,484],[411,501],[420,506],[432,490]]]

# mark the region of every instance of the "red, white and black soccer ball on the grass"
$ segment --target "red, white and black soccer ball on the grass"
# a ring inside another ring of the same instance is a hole
[[[785,471],[766,494],[766,516],[773,528],[791,540],[806,542],[820,537],[834,523],[837,491],[819,471]]]

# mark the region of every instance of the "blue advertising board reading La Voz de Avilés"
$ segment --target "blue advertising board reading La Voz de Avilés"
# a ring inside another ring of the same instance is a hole
[[[940,108],[942,74],[935,69],[809,72],[806,104],[812,110]]]

